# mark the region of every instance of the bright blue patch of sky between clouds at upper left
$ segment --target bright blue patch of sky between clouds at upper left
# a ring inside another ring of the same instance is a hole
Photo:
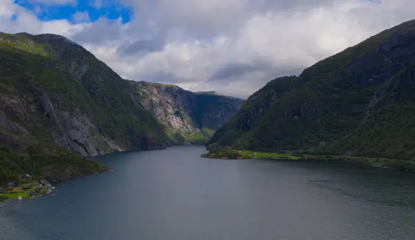
[[[70,1],[67,1],[67,3],[50,3],[50,1],[15,0],[15,3],[33,12],[41,21],[66,19],[74,24],[76,21],[73,19],[73,15],[76,12],[88,12],[91,22],[98,20],[100,17],[106,17],[110,20],[122,18],[122,23],[125,24],[131,21],[131,17],[133,17],[132,8],[125,6],[119,0],[98,0],[102,3],[99,5],[95,4],[96,0],[76,0],[75,3]]]

